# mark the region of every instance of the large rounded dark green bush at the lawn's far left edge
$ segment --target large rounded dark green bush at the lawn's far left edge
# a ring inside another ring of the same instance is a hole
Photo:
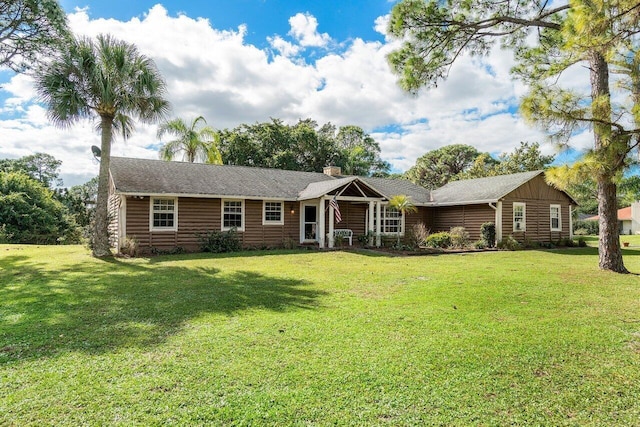
[[[0,172],[0,225],[11,243],[78,243],[80,231],[53,192],[23,173]]]

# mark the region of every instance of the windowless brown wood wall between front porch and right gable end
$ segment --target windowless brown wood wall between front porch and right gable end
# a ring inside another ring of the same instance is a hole
[[[453,227],[464,227],[471,240],[480,239],[480,226],[495,222],[496,214],[488,204],[444,206],[434,208],[431,232],[450,231]]]

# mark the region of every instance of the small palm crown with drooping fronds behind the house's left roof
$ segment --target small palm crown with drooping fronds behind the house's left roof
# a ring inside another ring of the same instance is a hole
[[[187,126],[187,123],[179,118],[161,124],[158,128],[158,139],[162,139],[165,134],[174,135],[177,139],[165,143],[160,148],[160,158],[173,160],[182,152],[183,160],[190,163],[202,161],[222,164],[222,156],[218,150],[218,132],[209,126],[196,129],[200,122],[205,125],[207,123],[204,117],[198,116],[191,122],[191,126]]]

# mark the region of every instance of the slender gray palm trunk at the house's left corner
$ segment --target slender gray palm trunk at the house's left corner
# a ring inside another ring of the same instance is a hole
[[[109,163],[111,161],[111,137],[113,118],[101,118],[101,154],[100,174],[98,175],[98,200],[96,201],[95,228],[93,230],[93,256],[105,257],[111,255],[109,244]]]

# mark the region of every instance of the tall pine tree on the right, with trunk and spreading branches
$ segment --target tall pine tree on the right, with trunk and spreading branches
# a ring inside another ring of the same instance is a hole
[[[415,92],[446,78],[464,53],[486,55],[496,41],[514,48],[515,75],[530,86],[522,104],[525,116],[558,140],[584,127],[593,129],[590,164],[598,185],[599,266],[626,273],[617,233],[615,177],[625,169],[640,133],[623,125],[637,123],[628,118],[640,115],[640,85],[634,86],[640,81],[635,67],[639,21],[636,0],[404,0],[394,6],[389,23],[390,33],[402,37],[403,44],[388,58],[400,85]],[[590,74],[586,96],[559,86],[559,76],[579,63]],[[628,77],[630,107],[612,105],[610,67]]]

